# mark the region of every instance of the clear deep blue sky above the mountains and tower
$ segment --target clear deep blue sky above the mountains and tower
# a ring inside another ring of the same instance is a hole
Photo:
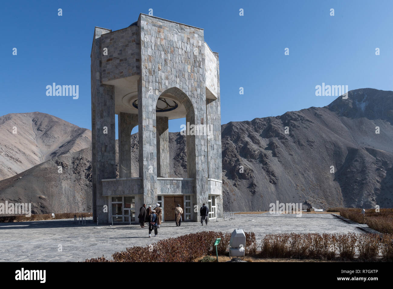
[[[336,96],[315,96],[322,83],[393,90],[393,1],[7,1],[0,115],[39,111],[91,129],[94,27],[125,28],[150,8],[204,28],[220,57],[222,123],[328,105]],[[79,99],[46,96],[53,82],[79,85]]]

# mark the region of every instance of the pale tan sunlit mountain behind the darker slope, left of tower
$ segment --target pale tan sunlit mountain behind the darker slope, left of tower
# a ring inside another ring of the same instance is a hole
[[[0,180],[91,146],[91,132],[41,112],[0,117]]]

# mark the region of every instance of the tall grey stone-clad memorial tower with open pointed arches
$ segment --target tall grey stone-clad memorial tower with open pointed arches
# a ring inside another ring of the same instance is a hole
[[[94,221],[134,223],[143,203],[157,202],[163,221],[174,220],[178,203],[184,221],[198,221],[202,203],[209,204],[211,219],[222,217],[219,76],[218,53],[204,42],[203,29],[145,14],[117,31],[95,27],[91,53]],[[168,120],[184,117],[187,178],[171,178]],[[139,177],[131,177],[130,134],[137,125]]]

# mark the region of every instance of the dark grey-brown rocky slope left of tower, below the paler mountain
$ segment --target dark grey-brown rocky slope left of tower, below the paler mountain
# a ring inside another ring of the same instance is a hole
[[[91,212],[91,158],[87,147],[1,180],[0,202],[31,203],[32,214]]]

